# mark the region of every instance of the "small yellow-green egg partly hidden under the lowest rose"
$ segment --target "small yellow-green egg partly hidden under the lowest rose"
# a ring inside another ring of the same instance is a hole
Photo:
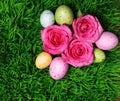
[[[94,63],[100,63],[103,62],[105,60],[105,53],[103,50],[99,49],[99,48],[95,48],[94,49]]]

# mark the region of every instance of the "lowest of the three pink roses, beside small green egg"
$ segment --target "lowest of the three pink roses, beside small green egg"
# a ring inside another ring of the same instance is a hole
[[[74,67],[90,65],[93,57],[92,43],[79,39],[73,39],[62,53],[62,58]]]

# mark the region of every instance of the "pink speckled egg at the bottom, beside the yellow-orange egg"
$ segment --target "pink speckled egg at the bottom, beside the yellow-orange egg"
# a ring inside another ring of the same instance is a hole
[[[68,71],[68,64],[61,57],[56,57],[52,60],[49,71],[53,79],[62,79]]]

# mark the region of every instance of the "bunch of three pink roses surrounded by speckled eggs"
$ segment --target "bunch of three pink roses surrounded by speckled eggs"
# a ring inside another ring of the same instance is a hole
[[[87,66],[93,62],[93,43],[102,32],[99,20],[90,14],[74,19],[72,29],[64,24],[54,24],[40,31],[44,51],[61,55],[66,63],[74,67]]]

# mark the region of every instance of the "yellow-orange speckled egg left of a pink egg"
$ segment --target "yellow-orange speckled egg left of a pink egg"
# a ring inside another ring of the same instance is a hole
[[[40,53],[35,61],[35,65],[39,69],[44,69],[50,65],[52,56],[47,52]]]

